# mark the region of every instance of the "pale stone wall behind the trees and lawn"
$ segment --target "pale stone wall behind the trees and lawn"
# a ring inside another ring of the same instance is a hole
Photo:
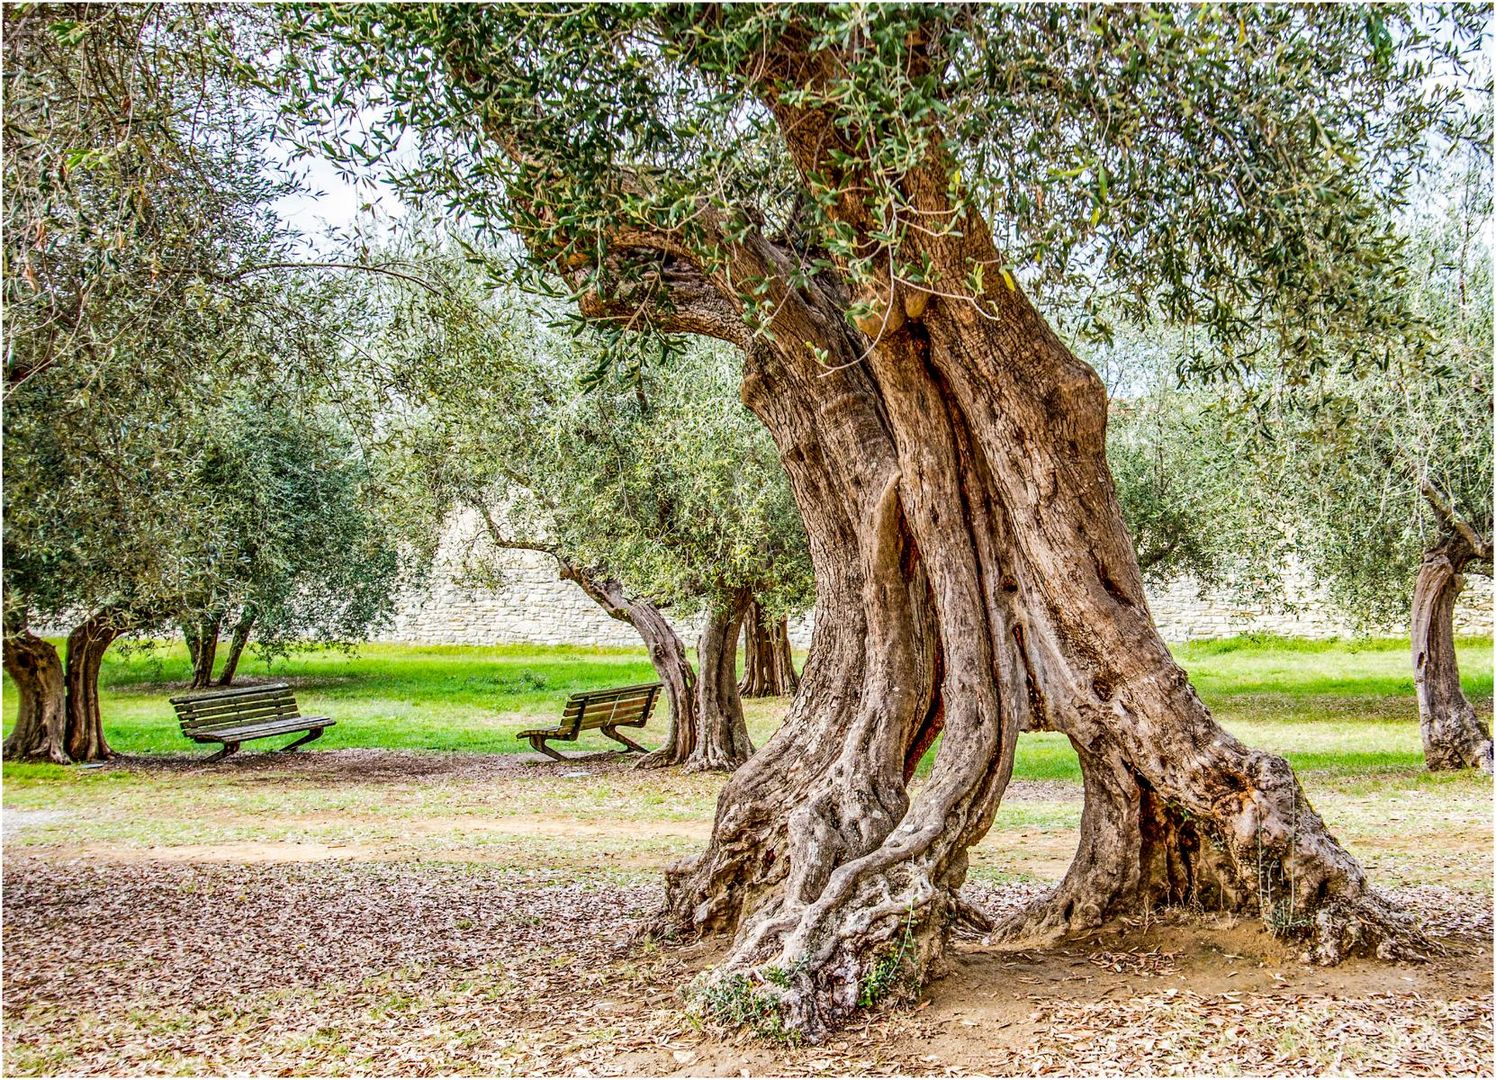
[[[473,522],[453,522],[428,589],[402,598],[393,625],[380,637],[431,645],[639,645],[625,622],[607,618],[573,582],[557,576],[555,561],[539,552],[504,552],[504,585],[471,589],[453,580],[453,552],[464,550]],[[1275,633],[1297,637],[1351,636],[1352,627],[1316,597],[1312,583],[1294,589],[1285,610],[1201,597],[1194,582],[1180,580],[1149,592],[1149,607],[1168,642]],[[687,643],[694,643],[699,619],[673,621]],[[814,613],[790,622],[796,648],[811,642]],[[1487,577],[1469,577],[1456,612],[1462,634],[1492,633],[1492,588]],[[1405,633],[1388,627],[1388,633]]]

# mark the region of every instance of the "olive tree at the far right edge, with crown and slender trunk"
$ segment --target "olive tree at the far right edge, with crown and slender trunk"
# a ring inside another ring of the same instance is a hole
[[[1412,226],[1409,290],[1438,349],[1284,393],[1282,489],[1297,547],[1363,627],[1406,624],[1429,769],[1492,769],[1460,688],[1454,603],[1492,576],[1489,148],[1454,156]],[[1299,401],[1308,398],[1308,401]]]

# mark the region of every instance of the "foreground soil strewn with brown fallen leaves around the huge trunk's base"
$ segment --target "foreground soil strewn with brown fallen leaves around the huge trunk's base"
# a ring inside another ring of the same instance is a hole
[[[715,947],[631,939],[655,881],[10,856],[4,1073],[1490,1071],[1489,896],[1399,898],[1445,947],[1421,965],[1308,968],[1192,912],[1038,950],[965,939],[914,1001],[784,1047],[685,1013]],[[992,911],[1034,892],[971,890]]]

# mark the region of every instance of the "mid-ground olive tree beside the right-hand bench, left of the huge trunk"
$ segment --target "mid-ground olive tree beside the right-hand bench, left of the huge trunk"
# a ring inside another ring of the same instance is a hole
[[[773,444],[736,399],[736,356],[697,344],[684,358],[634,356],[627,372],[600,368],[595,341],[555,332],[543,307],[453,251],[423,259],[428,274],[441,268],[438,296],[381,289],[405,314],[370,347],[380,369],[365,381],[393,389],[387,441],[407,506],[423,507],[408,534],[473,515],[480,530],[458,553],[473,585],[501,585],[512,549],[554,556],[634,627],[664,684],[670,730],[640,764],[736,767],[752,752],[738,625],[752,598],[788,610],[811,588]],[[705,616],[699,672],[664,610]]]

